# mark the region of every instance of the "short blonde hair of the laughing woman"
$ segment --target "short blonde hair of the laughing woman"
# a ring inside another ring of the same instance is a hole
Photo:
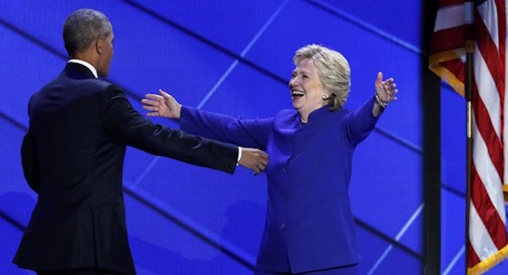
[[[346,58],[337,51],[312,44],[299,48],[293,57],[293,63],[298,65],[307,58],[312,58],[318,69],[319,80],[328,96],[326,100],[330,111],[341,109],[351,87],[351,68]]]

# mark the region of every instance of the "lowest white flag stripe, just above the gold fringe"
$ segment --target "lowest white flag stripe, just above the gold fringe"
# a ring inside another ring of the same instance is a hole
[[[498,248],[496,248],[496,245],[492,241],[472,202],[470,202],[469,223],[469,239],[473,250],[478,255],[480,261],[485,261],[489,256],[498,252]]]

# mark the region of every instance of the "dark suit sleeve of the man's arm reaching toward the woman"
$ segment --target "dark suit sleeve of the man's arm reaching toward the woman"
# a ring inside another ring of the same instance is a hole
[[[116,142],[154,155],[234,173],[238,147],[153,124],[140,115],[116,85],[102,99],[102,126]]]

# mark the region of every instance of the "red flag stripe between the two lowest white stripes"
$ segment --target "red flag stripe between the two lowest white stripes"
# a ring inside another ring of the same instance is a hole
[[[485,228],[487,228],[494,245],[500,250],[506,245],[507,241],[505,223],[499,217],[494,204],[490,200],[489,194],[485,190],[485,185],[483,185],[480,177],[478,177],[478,173],[476,173],[474,164],[471,170],[471,200],[474,208],[476,208],[476,212],[478,212],[478,216],[483,221]]]

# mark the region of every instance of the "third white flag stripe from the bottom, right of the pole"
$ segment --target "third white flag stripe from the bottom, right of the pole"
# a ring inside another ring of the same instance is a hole
[[[489,68],[483,59],[483,56],[478,49],[478,44],[474,43],[474,82],[478,87],[478,94],[480,95],[485,108],[489,113],[492,126],[498,139],[501,139],[501,101],[499,98],[498,88],[496,82],[489,72]]]

